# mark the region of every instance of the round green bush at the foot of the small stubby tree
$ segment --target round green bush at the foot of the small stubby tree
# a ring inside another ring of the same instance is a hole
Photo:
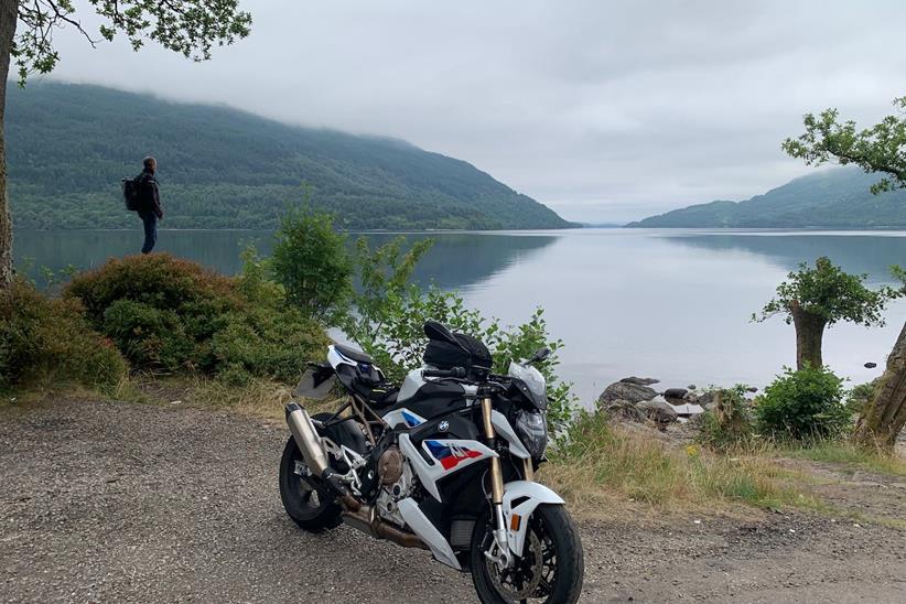
[[[784,374],[755,399],[762,431],[794,440],[839,435],[850,423],[843,405],[843,380],[826,367],[806,367]]]

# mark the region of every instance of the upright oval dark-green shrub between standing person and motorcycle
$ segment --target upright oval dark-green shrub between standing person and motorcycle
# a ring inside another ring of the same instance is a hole
[[[353,261],[330,214],[308,202],[290,209],[280,220],[270,265],[289,302],[310,319],[338,324],[353,291]]]

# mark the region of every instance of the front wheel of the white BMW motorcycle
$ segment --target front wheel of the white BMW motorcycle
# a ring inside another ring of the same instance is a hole
[[[484,604],[572,604],[582,592],[582,542],[562,505],[540,505],[529,520],[522,557],[500,571],[485,556],[494,540],[490,515],[472,536],[472,582]]]

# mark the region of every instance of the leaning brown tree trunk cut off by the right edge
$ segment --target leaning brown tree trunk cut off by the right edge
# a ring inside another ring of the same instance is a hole
[[[906,423],[906,323],[899,332],[887,368],[855,424],[855,442],[893,450]]]

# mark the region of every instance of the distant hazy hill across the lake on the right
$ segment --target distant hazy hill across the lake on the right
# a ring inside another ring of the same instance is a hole
[[[792,180],[744,202],[718,201],[628,227],[651,228],[906,228],[906,191],[872,195],[881,180],[855,168],[826,170]]]

